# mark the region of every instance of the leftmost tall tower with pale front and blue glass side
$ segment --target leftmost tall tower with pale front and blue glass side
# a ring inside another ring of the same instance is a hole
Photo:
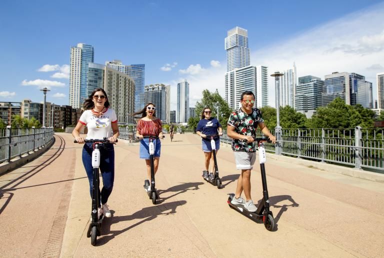
[[[78,43],[70,47],[69,105],[81,107],[88,97],[88,63],[93,62],[93,46]]]

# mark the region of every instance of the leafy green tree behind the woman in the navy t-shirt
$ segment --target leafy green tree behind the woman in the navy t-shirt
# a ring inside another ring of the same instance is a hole
[[[197,101],[195,106],[196,116],[193,117],[193,119],[191,119],[192,117],[189,118],[188,125],[191,128],[195,128],[197,126],[197,123],[201,118],[201,112],[206,106],[208,106],[212,110],[212,117],[217,118],[216,102],[218,102],[219,109],[218,121],[220,122],[222,128],[225,129],[231,110],[228,106],[228,103],[220,96],[217,89],[214,92],[210,92],[208,89],[204,89],[202,91],[201,101]]]

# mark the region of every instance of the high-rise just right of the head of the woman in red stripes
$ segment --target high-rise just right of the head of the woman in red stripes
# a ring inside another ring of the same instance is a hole
[[[170,85],[162,83],[149,84],[144,86],[144,102],[156,106],[156,117],[161,121],[169,123],[170,117]]]

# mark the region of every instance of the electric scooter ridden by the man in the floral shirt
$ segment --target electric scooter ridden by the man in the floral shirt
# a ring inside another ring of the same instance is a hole
[[[243,141],[247,141],[244,139]],[[257,207],[256,211],[248,211],[242,204],[232,204],[230,201],[234,197],[234,193],[228,194],[228,205],[235,209],[236,211],[240,212],[241,214],[249,217],[255,222],[263,222],[264,226],[267,230],[273,231],[274,229],[274,219],[272,211],[269,210],[269,196],[268,196],[268,189],[266,186],[266,175],[265,175],[265,166],[264,163],[266,162],[266,154],[265,154],[265,148],[263,142],[271,142],[268,138],[254,138],[254,141],[257,141],[258,146],[258,159],[260,162],[260,170],[261,170],[261,182],[262,182],[262,200],[260,205]]]

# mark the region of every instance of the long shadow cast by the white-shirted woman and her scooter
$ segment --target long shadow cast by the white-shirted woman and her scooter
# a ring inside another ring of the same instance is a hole
[[[185,200],[172,201],[172,202],[167,202],[167,203],[163,203],[155,206],[144,207],[141,210],[138,210],[131,215],[112,216],[110,218],[104,218],[102,227],[101,227],[101,234],[106,234],[106,235],[101,235],[99,238],[97,238],[97,245],[103,245],[107,243],[109,240],[113,239],[115,236],[135,226],[138,226],[146,221],[155,219],[157,216],[160,216],[160,215],[166,216],[166,215],[174,214],[176,213],[177,206],[184,205],[185,203],[186,203]],[[141,220],[121,230],[110,230],[110,226],[112,224],[115,224],[121,221],[133,220],[133,219],[141,219]]]

